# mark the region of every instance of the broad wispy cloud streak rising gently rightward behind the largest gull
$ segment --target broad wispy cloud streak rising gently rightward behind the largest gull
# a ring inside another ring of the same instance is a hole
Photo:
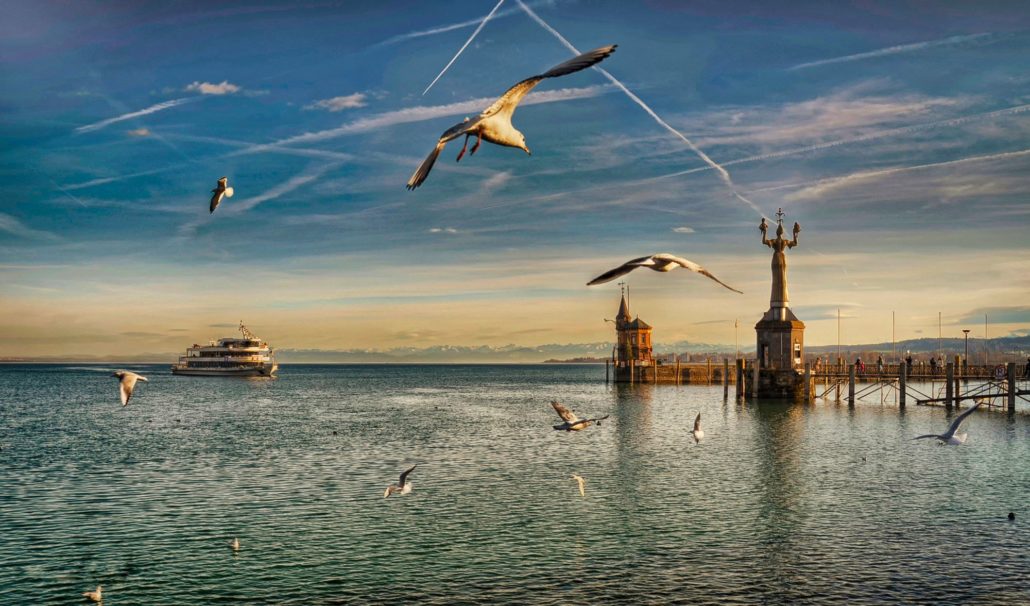
[[[519,105],[535,105],[538,103],[555,103],[559,101],[571,101],[574,99],[585,99],[589,97],[596,97],[598,95],[603,95],[607,93],[609,90],[610,90],[609,87],[594,86],[594,87],[583,87],[577,89],[558,89],[556,91],[544,91],[541,93],[530,93],[525,96],[525,98]],[[355,120],[353,122],[349,122],[335,129],[328,129],[324,131],[317,131],[314,133],[305,133],[303,135],[297,135],[295,137],[280,139],[272,143],[255,145],[249,149],[243,150],[242,153],[254,154],[258,152],[267,152],[281,145],[293,145],[297,143],[311,143],[314,141],[324,141],[327,139],[335,139],[337,137],[342,137],[345,135],[355,135],[359,133],[376,131],[385,127],[396,126],[400,124],[423,122],[426,120],[434,120],[437,117],[444,117],[447,115],[458,115],[461,113],[468,114],[473,112],[479,112],[482,111],[484,108],[486,108],[490,103],[493,103],[493,101],[494,101],[493,98],[481,97],[478,99],[471,99],[469,101],[449,103],[447,105],[416,105],[414,107],[406,107],[404,109],[397,109],[393,111],[376,113],[367,117]]]

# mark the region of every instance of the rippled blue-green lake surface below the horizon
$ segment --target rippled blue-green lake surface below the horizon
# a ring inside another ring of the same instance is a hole
[[[129,368],[123,408],[111,368],[0,366],[0,604],[1030,603],[1025,413],[940,447],[942,408],[597,366]]]

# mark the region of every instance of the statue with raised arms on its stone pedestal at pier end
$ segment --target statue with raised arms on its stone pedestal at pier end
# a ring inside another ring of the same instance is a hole
[[[768,224],[758,226],[762,244],[772,248],[772,291],[768,311],[755,325],[759,398],[797,398],[804,394],[804,323],[790,309],[787,294],[787,256],[797,245],[801,226],[794,224],[793,238],[784,238],[783,209],[777,211],[776,238],[768,239]]]

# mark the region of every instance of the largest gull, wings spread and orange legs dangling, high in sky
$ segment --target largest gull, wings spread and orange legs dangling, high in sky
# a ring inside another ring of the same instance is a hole
[[[408,189],[414,190],[418,186],[421,186],[425,177],[430,176],[430,171],[433,170],[433,165],[436,164],[437,157],[440,156],[440,152],[444,148],[444,145],[461,135],[465,135],[465,145],[461,146],[461,152],[457,155],[458,161],[465,156],[465,150],[469,146],[469,137],[474,135],[476,137],[476,144],[469,150],[470,154],[475,154],[476,149],[479,149],[479,144],[483,139],[497,145],[516,147],[529,154],[529,148],[525,145],[525,135],[512,126],[512,114],[515,113],[515,109],[518,107],[522,97],[525,97],[526,93],[531,91],[544,78],[563,76],[600,63],[609,55],[615,53],[615,47],[616,44],[595,48],[589,53],[584,53],[579,57],[570,59],[560,65],[556,65],[540,75],[526,78],[508,89],[500,99],[493,102],[493,105],[484,109],[474,120],[466,117],[460,124],[456,124],[444,131],[444,134],[440,135],[440,140],[437,141],[437,146],[422,161],[422,164],[411,175],[411,178],[408,179]]]

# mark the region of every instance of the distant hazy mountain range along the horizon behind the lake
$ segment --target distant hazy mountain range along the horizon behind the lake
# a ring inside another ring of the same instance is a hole
[[[942,339],[940,342],[945,355],[962,354],[963,339]],[[543,362],[598,362],[612,355],[612,342],[595,343],[549,343],[546,345],[434,345],[432,347],[392,347],[389,349],[277,349],[276,358],[280,364],[539,364]],[[1030,355],[1030,336],[999,337],[988,342],[992,356],[1008,354],[1026,357]],[[868,343],[840,345],[840,354],[855,355],[858,352],[889,352],[891,343]],[[809,354],[835,354],[836,345],[809,345]],[[936,352],[937,339],[909,339],[898,341],[894,349],[899,355],[911,351],[913,355]],[[741,352],[754,355],[754,346],[749,343],[742,347]],[[984,351],[983,339],[969,339],[969,358],[976,361]],[[677,341],[673,343],[655,344],[655,352],[661,355],[708,355],[712,357],[732,357],[732,346],[712,343],[693,343]],[[47,356],[36,358],[6,358],[0,363],[168,363],[171,364],[178,354],[141,354],[138,356]]]

